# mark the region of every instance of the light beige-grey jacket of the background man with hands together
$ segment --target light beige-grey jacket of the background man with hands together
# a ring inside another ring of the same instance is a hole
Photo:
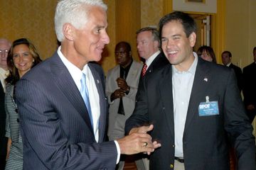
[[[127,118],[129,118],[132,115],[132,112],[134,111],[135,97],[138,90],[139,77],[141,72],[142,72],[142,64],[139,62],[133,61],[126,79],[128,86],[130,86],[129,94],[122,98],[125,115],[122,116],[122,120],[119,120],[121,121],[121,124],[123,124],[123,125],[120,125],[121,127],[119,127],[121,128],[120,131],[122,131],[122,133],[119,134],[119,137],[124,136],[125,121],[127,120]],[[110,101],[110,96],[116,89],[119,89],[116,81],[117,78],[119,77],[119,73],[120,73],[120,66],[117,65],[116,67],[110,69],[110,71],[107,73],[107,78],[106,78],[106,94],[107,94],[108,102],[110,103],[109,127],[107,131],[107,135],[112,140],[113,140],[113,136],[111,133],[113,131],[113,128],[117,128],[114,126],[116,125],[115,123],[117,122],[117,117],[118,117],[117,111],[118,111],[120,99],[117,98],[114,101]],[[114,135],[114,138],[117,138],[117,135]]]

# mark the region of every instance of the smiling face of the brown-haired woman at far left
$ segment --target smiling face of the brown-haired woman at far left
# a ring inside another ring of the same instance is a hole
[[[22,77],[33,66],[33,56],[28,45],[16,45],[13,50],[14,65],[18,69],[18,74]]]

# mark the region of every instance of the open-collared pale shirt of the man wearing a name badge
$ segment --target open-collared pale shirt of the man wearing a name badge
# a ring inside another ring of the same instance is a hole
[[[188,112],[188,103],[191,96],[193,79],[196,73],[198,56],[193,52],[195,60],[186,72],[179,72],[172,65],[172,85],[174,96],[174,139],[175,157],[183,158],[183,132]]]

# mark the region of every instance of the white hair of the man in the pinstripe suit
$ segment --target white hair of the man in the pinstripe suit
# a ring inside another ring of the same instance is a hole
[[[55,11],[55,33],[58,41],[64,40],[63,26],[70,23],[79,29],[87,23],[90,7],[100,6],[107,11],[107,5],[102,0],[60,0]]]

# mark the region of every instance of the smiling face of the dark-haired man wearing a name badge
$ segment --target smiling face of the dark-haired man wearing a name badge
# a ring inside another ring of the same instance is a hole
[[[167,60],[179,71],[186,71],[193,63],[193,46],[196,33],[186,37],[183,26],[178,21],[166,23],[161,31],[161,47]]]

